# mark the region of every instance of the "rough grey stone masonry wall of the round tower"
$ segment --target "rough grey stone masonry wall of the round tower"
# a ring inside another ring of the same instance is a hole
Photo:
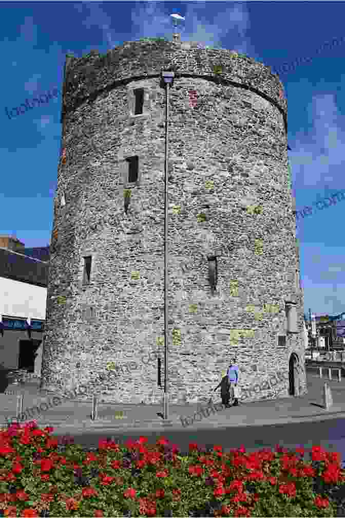
[[[287,395],[290,355],[304,365],[304,347],[301,333],[286,346],[277,340],[285,334],[285,301],[293,297],[303,329],[282,85],[269,67],[228,50],[149,41],[125,42],[106,57],[67,56],[66,159],[58,166],[54,204],[42,388],[63,392],[86,383],[84,399],[99,393],[104,401],[161,401],[165,92],[159,83],[170,66],[170,401],[207,400],[234,355],[244,389],[277,371],[285,376],[254,399]],[[134,88],[145,91],[142,115],[133,115]],[[194,107],[190,90],[197,92]],[[139,180],[129,184],[125,159],[132,155],[139,156]],[[275,221],[280,231],[272,239]],[[93,257],[89,286],[82,284],[85,255]],[[218,265],[214,294],[211,255]],[[109,370],[110,362],[131,361],[138,368],[120,377]]]

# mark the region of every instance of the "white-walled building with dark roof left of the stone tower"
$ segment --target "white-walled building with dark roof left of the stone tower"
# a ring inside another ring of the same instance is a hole
[[[0,236],[0,364],[41,373],[49,246]],[[27,326],[30,324],[30,327]]]

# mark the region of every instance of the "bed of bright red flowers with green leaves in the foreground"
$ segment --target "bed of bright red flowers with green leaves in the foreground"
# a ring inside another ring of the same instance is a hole
[[[84,451],[52,431],[0,430],[0,515],[344,516],[340,455],[320,447],[225,454],[190,443],[182,456],[167,439],[141,437]]]

